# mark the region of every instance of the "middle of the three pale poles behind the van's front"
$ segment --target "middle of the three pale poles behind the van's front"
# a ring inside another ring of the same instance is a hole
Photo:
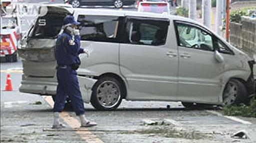
[[[202,0],[202,23],[210,28],[211,24],[211,0]]]

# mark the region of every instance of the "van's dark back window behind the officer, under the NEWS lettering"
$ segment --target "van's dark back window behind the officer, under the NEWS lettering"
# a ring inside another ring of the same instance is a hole
[[[48,12],[45,16],[38,17],[29,37],[56,38],[63,25],[65,15],[64,13]]]

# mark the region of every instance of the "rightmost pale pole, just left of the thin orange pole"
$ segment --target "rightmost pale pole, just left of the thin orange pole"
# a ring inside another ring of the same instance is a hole
[[[223,15],[223,1],[224,0],[217,0],[216,1],[216,27],[215,27],[215,32],[218,35],[221,34],[221,29],[222,29],[222,15]]]

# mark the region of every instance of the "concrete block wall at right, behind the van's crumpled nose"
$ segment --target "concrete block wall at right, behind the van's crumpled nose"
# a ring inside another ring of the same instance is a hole
[[[242,17],[240,23],[230,23],[229,42],[252,55],[256,53],[256,18]]]

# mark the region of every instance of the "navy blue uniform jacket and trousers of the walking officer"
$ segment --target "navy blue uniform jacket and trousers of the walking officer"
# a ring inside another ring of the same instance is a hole
[[[72,38],[67,31],[64,31],[58,36],[55,51],[58,85],[53,112],[62,112],[68,95],[75,114],[77,116],[84,114],[77,73],[71,68],[74,64],[80,64],[78,55],[82,52],[83,49],[80,48],[80,37],[78,35]]]

